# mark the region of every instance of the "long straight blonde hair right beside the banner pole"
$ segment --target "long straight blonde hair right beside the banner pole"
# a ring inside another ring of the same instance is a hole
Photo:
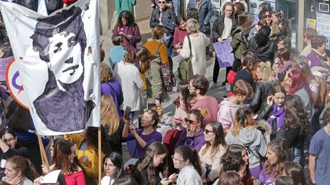
[[[118,130],[120,118],[118,116],[117,108],[115,108],[115,101],[111,95],[102,95],[101,97],[101,124],[109,126],[109,135],[112,136]]]

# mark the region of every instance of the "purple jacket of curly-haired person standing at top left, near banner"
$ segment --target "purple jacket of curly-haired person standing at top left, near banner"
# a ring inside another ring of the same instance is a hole
[[[125,38],[128,35],[132,36],[131,40],[126,38],[126,40],[127,40],[127,45],[125,46],[126,51],[129,51],[129,50],[135,51],[137,42],[141,41],[140,29],[137,26],[137,24],[134,23],[134,25],[132,27],[128,27],[126,25],[119,27],[118,24],[115,25],[115,27],[113,28],[113,34],[112,34],[111,39],[114,36],[118,36],[120,32],[124,33]]]

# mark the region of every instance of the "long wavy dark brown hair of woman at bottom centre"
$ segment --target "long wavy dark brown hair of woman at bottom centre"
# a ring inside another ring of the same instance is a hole
[[[148,149],[144,152],[142,158],[137,160],[135,164],[134,174],[140,173],[146,169],[146,173],[148,174],[148,180],[151,185],[156,184],[156,169],[159,169],[162,173],[163,177],[167,177],[168,175],[168,166],[167,166],[167,158],[164,158],[163,162],[159,164],[158,167],[155,167],[153,164],[153,158],[156,155],[162,155],[164,153],[168,153],[166,147],[162,145],[162,143],[155,142],[151,144]]]

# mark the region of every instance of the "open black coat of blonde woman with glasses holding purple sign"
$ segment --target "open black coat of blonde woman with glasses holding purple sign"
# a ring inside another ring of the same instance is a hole
[[[218,42],[218,38],[222,36],[223,29],[225,28],[225,15],[218,16],[212,26],[213,42]],[[232,17],[232,31],[237,27],[236,18]],[[231,31],[231,32],[232,32]]]

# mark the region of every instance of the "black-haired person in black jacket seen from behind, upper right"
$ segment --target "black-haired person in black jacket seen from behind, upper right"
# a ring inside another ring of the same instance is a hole
[[[249,48],[256,52],[260,62],[274,62],[274,53],[277,51],[276,43],[270,40],[272,29],[263,26],[256,36],[249,42]]]

